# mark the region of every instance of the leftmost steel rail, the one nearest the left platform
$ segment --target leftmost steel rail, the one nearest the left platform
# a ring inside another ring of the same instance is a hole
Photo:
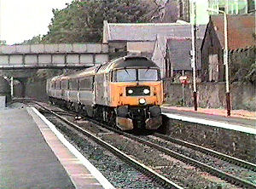
[[[41,106],[40,104],[38,104],[37,102],[35,102],[38,106]],[[125,160],[125,162],[130,163],[132,166],[134,166],[136,169],[139,169],[140,171],[142,171],[143,173],[145,173],[146,175],[149,175],[152,179],[157,180],[162,186],[166,186],[166,188],[177,188],[177,189],[183,189],[182,186],[178,186],[177,184],[175,184],[174,182],[172,182],[171,180],[168,180],[165,176],[158,174],[157,172],[155,172],[153,169],[148,168],[146,165],[144,165],[143,163],[139,163],[137,162],[137,160],[129,157],[128,155],[126,155],[124,152],[119,151],[119,149],[117,149],[116,147],[108,144],[107,142],[105,142],[104,140],[96,137],[96,135],[91,134],[90,132],[86,131],[85,129],[80,128],[77,124],[72,123],[70,121],[67,120],[67,118],[65,117],[61,117],[59,114],[49,110],[48,108],[41,106],[44,110],[52,113],[53,115],[55,115],[55,117],[58,117],[59,119],[61,119],[61,121],[63,121],[64,123],[67,123],[69,126],[71,126],[73,129],[76,129],[77,131],[79,131],[80,133],[82,133],[83,135],[86,135],[87,137],[89,137],[90,139],[96,141],[96,143],[98,143],[101,146],[104,146],[105,148],[107,148],[110,152],[112,152],[113,154],[115,154],[117,157]]]

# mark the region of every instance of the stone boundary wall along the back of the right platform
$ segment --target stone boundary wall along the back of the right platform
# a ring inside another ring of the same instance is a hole
[[[166,81],[164,85],[166,104],[180,106],[183,100],[181,83]],[[197,83],[198,106],[225,108],[225,83]],[[256,111],[256,86],[253,84],[232,83],[230,84],[231,108],[233,110],[244,109]],[[185,85],[185,106],[193,106],[193,85]]]

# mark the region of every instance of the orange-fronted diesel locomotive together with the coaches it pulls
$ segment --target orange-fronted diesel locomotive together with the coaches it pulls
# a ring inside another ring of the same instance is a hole
[[[143,56],[125,56],[49,79],[52,103],[122,130],[158,129],[163,83],[160,68]]]

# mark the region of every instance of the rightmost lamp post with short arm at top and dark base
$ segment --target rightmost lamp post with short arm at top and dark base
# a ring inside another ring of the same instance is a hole
[[[230,80],[229,80],[229,49],[228,49],[228,20],[227,14],[222,10],[217,9],[207,9],[207,11],[212,11],[216,13],[224,14],[224,66],[225,66],[225,83],[226,83],[226,105],[227,105],[227,116],[230,116],[231,106],[230,106]]]

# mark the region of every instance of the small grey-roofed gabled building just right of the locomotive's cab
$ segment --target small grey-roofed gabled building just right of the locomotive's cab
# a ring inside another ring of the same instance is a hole
[[[201,43],[205,36],[206,25],[197,27],[196,32],[196,52],[198,71],[201,71]],[[183,29],[175,35],[158,35],[154,44],[152,60],[160,66],[163,78],[175,77],[177,73],[185,72],[190,74],[192,71],[190,63],[191,26],[183,26]]]

